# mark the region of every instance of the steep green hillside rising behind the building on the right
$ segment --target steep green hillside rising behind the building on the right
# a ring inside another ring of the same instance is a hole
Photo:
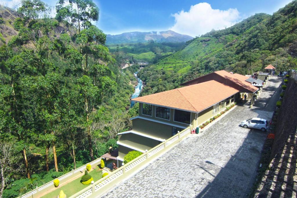
[[[268,64],[277,72],[296,68],[297,1],[273,15],[255,14],[236,25],[211,31],[182,50],[139,72],[146,82],[142,95],[176,88],[180,83],[225,69],[251,74]]]

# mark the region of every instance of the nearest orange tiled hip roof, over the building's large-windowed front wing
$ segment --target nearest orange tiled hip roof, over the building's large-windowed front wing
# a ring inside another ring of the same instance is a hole
[[[204,83],[134,98],[132,101],[200,112],[237,92],[238,90],[235,88],[215,80],[210,80]]]

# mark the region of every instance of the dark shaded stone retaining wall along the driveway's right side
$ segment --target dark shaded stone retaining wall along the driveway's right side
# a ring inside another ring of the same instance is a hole
[[[277,127],[275,130],[275,140],[271,148],[271,156],[273,159],[279,149],[291,133],[296,132],[297,127],[297,81],[290,78],[285,95],[282,99],[282,106],[279,109],[277,118]]]

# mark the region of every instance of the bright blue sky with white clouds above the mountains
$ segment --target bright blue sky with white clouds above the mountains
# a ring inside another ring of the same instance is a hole
[[[0,0],[9,7],[20,0]],[[93,0],[105,34],[173,30],[192,37],[230,27],[255,13],[273,14],[291,0]],[[56,1],[45,0],[54,6]]]

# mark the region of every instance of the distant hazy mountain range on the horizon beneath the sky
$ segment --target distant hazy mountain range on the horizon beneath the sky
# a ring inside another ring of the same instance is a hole
[[[154,42],[187,42],[193,37],[185,34],[178,34],[175,31],[151,31],[151,32],[125,32],[122,34],[110,35],[106,37],[106,44],[121,43],[145,43]]]

